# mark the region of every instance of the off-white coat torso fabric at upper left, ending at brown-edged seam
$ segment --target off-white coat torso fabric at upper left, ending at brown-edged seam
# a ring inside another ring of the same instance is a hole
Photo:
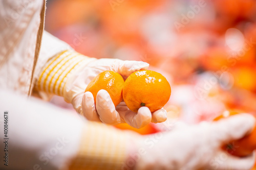
[[[0,87],[29,94],[44,1],[0,1]]]

